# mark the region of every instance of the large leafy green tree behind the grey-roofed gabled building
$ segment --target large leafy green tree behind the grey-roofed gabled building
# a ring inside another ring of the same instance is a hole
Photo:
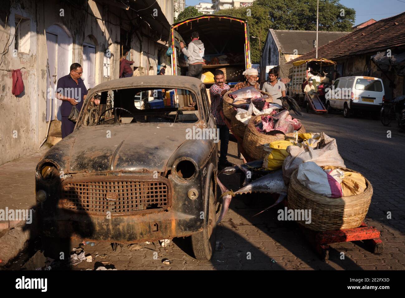
[[[249,35],[260,37],[263,48],[269,29],[316,30],[317,0],[256,0],[252,6],[225,9],[219,15],[232,15],[247,19]],[[319,0],[320,31],[352,31],[356,11],[339,3],[339,0]],[[250,39],[253,63],[260,61],[258,39]],[[299,42],[299,41],[297,41]]]

